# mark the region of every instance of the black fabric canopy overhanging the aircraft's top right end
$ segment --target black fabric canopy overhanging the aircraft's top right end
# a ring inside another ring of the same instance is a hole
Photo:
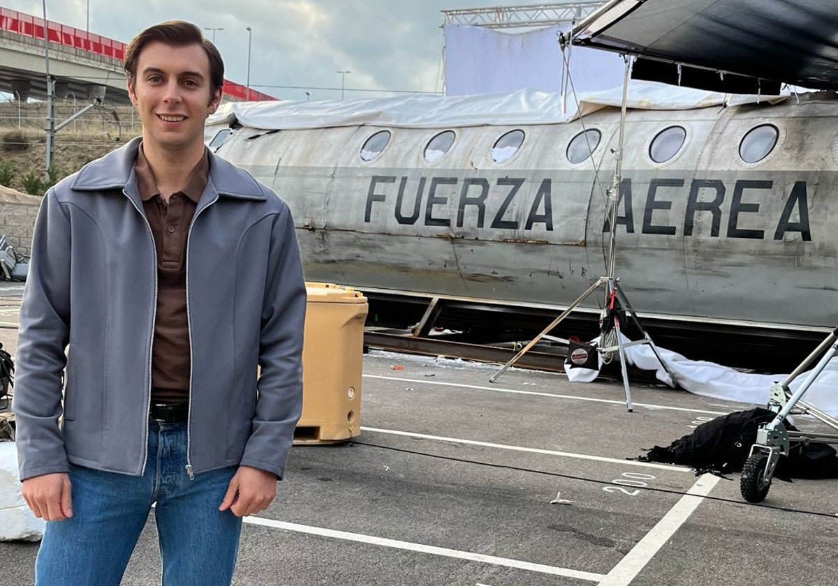
[[[838,90],[836,0],[612,0],[571,34],[638,55],[635,79],[730,93]]]

